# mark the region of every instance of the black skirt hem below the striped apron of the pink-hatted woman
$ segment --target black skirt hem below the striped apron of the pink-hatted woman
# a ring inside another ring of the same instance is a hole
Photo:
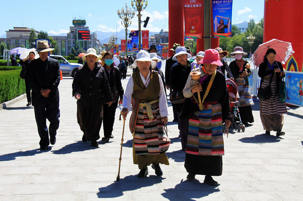
[[[184,167],[188,173],[211,176],[222,175],[222,156],[185,155]]]

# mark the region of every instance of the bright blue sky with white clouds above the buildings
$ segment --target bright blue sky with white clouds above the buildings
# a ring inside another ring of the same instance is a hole
[[[176,2],[179,0],[175,0]],[[3,1],[0,12],[0,36],[13,27],[34,28],[37,31],[60,34],[67,33],[73,18],[86,20],[90,31],[121,31],[124,28],[117,15],[117,10],[130,5],[130,0],[112,1]],[[6,9],[4,9],[6,8]],[[168,30],[168,0],[149,0],[142,12],[142,20],[150,17],[146,30],[159,32]],[[259,22],[264,16],[264,0],[234,0],[232,24],[254,19]],[[132,30],[138,28],[138,18],[132,20]],[[142,28],[143,29],[143,28]],[[144,29],[143,29],[144,30]]]

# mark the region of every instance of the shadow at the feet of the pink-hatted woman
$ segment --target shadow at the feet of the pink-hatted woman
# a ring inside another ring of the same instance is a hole
[[[193,201],[201,197],[208,196],[211,193],[218,192],[217,186],[211,186],[200,183],[198,180],[188,181],[183,179],[174,188],[164,189],[163,197],[169,200],[186,200]]]

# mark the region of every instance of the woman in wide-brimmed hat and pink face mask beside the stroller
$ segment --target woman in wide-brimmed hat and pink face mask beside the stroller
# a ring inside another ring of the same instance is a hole
[[[246,52],[243,52],[242,47],[235,47],[234,51],[230,53],[231,56],[234,56],[236,59],[229,63],[230,71],[233,75],[235,83],[238,87],[238,93],[240,96],[239,99],[239,114],[242,120],[242,123],[245,126],[248,126],[248,122],[254,122],[254,116],[252,116],[251,105],[254,105],[252,101],[251,93],[249,92],[249,83],[248,76],[251,75],[250,65],[245,61],[242,56],[247,55]],[[227,76],[230,78],[229,76]]]

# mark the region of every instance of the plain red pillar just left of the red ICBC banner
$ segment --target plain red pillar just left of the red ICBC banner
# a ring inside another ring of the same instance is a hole
[[[168,48],[171,49],[174,43],[179,43],[184,46],[184,17],[183,17],[183,1],[169,0],[168,1]],[[169,55],[173,52],[169,50]]]

